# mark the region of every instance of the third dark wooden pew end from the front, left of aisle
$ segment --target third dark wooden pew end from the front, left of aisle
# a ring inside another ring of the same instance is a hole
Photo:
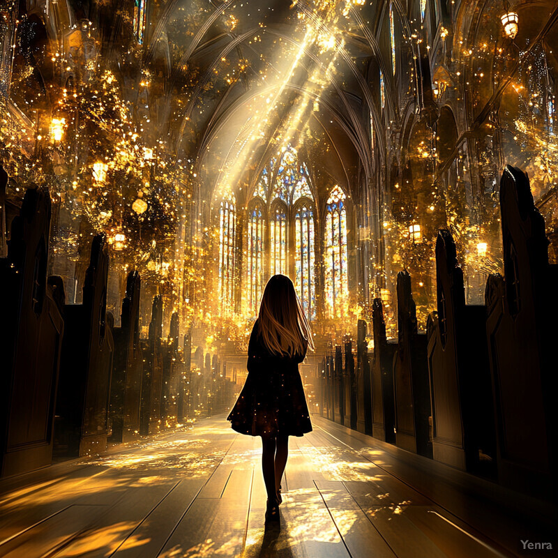
[[[121,326],[114,328],[114,362],[110,388],[111,442],[128,442],[140,435],[143,354],[140,345],[141,280],[137,271],[126,278]]]

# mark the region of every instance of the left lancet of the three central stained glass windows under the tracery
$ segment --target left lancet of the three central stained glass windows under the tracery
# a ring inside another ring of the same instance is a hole
[[[248,310],[256,316],[264,285],[264,206],[256,199],[248,211]]]

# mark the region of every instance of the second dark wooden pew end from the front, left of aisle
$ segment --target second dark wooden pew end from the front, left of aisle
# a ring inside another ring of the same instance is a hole
[[[107,308],[109,255],[103,234],[93,238],[83,303],[64,307],[55,449],[93,455],[107,447],[114,318]]]

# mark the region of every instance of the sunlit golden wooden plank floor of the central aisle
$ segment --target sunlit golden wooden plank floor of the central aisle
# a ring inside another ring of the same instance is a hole
[[[0,556],[519,554],[521,525],[503,510],[473,502],[385,444],[318,416],[312,423],[313,432],[290,438],[280,528],[264,529],[259,438],[236,434],[220,415],[1,481]]]

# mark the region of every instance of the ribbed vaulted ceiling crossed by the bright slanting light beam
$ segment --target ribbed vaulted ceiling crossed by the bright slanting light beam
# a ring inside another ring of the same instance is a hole
[[[169,1],[144,64],[164,77],[158,121],[177,157],[225,188],[249,184],[285,143],[317,162],[324,181],[349,187],[368,174],[377,107],[367,75],[385,6],[354,7]]]

